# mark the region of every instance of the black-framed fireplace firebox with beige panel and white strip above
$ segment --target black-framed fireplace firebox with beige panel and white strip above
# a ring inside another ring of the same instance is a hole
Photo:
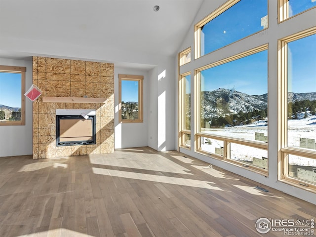
[[[96,144],[93,110],[56,110],[56,146]]]

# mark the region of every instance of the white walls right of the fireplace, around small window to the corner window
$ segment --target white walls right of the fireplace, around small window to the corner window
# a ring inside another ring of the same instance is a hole
[[[165,58],[162,62],[147,72],[115,69],[116,148],[149,146],[158,151],[175,149],[174,61]],[[118,123],[118,74],[144,75],[143,123]]]

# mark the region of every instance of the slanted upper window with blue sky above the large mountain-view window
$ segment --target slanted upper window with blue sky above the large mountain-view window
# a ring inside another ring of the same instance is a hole
[[[266,28],[267,0],[229,0],[195,26],[195,58]]]

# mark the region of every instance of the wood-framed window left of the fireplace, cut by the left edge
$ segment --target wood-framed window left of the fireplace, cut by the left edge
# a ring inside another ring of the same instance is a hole
[[[25,71],[0,66],[0,126],[25,125]]]

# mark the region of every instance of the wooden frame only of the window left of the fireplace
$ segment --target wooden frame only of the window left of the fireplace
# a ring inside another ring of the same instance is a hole
[[[26,67],[17,66],[2,66],[0,65],[1,73],[21,74],[21,120],[20,121],[2,121],[0,126],[25,125],[25,72]]]

